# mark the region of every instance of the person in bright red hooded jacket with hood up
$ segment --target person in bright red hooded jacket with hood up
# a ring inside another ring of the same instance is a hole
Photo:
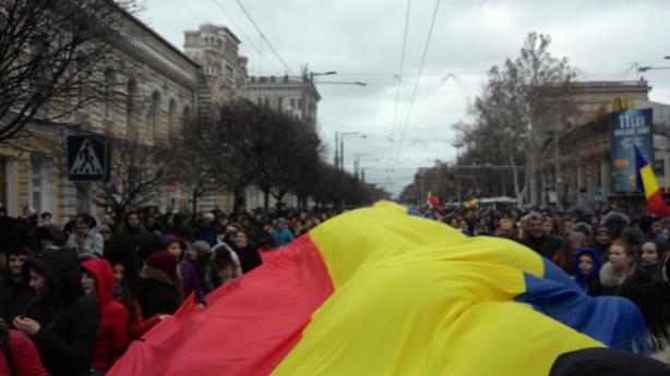
[[[82,288],[95,296],[100,308],[100,329],[91,367],[94,375],[104,375],[121,356],[128,339],[130,315],[123,305],[113,300],[113,274],[109,262],[103,258],[82,263]]]

